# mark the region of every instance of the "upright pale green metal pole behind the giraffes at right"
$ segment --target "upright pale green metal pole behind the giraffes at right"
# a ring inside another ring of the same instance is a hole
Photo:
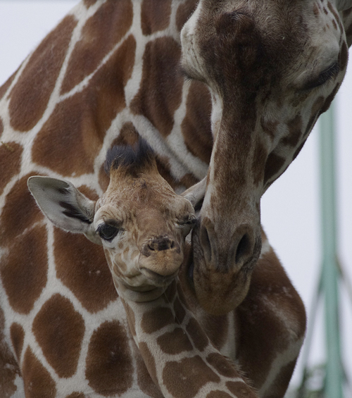
[[[327,344],[325,398],[343,397],[334,149],[334,103],[332,103],[329,110],[320,117],[322,291],[325,295]]]

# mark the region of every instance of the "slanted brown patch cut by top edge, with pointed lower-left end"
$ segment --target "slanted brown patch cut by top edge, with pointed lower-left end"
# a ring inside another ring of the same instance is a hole
[[[94,73],[99,64],[132,25],[131,0],[108,0],[82,29],[81,39],[70,56],[61,94],[69,92],[84,77]]]

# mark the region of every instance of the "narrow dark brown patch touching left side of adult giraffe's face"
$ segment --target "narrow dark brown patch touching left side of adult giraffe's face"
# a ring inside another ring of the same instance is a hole
[[[213,149],[210,116],[211,99],[209,90],[201,82],[191,82],[187,96],[187,113],[182,120],[181,130],[187,149],[209,163]]]

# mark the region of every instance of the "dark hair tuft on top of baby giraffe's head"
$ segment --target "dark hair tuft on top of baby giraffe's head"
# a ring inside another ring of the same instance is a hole
[[[116,145],[108,150],[104,170],[110,175],[111,168],[117,170],[119,167],[125,168],[129,173],[139,173],[155,160],[155,153],[145,139],[131,145]]]

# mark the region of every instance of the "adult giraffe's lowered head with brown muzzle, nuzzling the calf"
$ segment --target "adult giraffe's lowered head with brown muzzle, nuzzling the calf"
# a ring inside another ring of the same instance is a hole
[[[182,29],[184,74],[206,83],[213,103],[213,152],[193,235],[196,294],[211,313],[225,297],[232,306],[244,298],[260,254],[260,198],[341,85],[348,46],[339,11],[349,7],[201,0]],[[243,294],[232,294],[239,286]]]

